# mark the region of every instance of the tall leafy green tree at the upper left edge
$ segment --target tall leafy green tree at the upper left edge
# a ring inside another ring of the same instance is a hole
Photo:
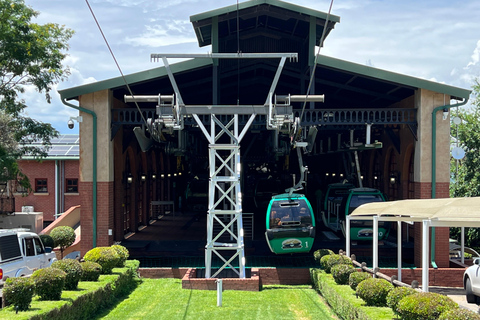
[[[28,117],[19,97],[33,87],[50,103],[53,86],[69,75],[62,61],[73,31],[32,22],[38,14],[23,0],[0,0],[0,184],[18,180],[29,187],[16,160],[25,154],[41,159],[58,134],[50,124]],[[33,141],[43,146],[27,146]]]

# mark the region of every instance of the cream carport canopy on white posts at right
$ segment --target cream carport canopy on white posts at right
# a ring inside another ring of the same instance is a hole
[[[350,255],[350,221],[373,221],[373,267],[378,267],[378,221],[397,221],[398,278],[401,281],[401,222],[422,222],[422,290],[428,291],[428,230],[430,227],[480,227],[480,197],[412,199],[361,205],[346,220],[346,251]],[[462,259],[463,262],[463,259]]]

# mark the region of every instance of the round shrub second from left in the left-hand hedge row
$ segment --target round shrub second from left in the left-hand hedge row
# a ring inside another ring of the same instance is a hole
[[[60,300],[66,277],[65,271],[48,267],[35,271],[31,278],[40,300]]]

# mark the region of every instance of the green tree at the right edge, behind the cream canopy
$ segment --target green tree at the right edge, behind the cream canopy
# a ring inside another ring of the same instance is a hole
[[[450,196],[477,197],[480,196],[480,83],[475,80],[473,86],[472,108],[459,110],[459,125],[452,124],[451,134],[458,145],[465,150],[465,157],[452,159],[450,173]],[[450,228],[450,236],[460,240],[460,228]],[[480,247],[480,230],[465,229],[465,244],[469,247]]]

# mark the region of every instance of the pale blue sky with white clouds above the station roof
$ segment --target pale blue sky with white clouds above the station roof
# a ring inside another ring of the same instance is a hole
[[[57,89],[120,76],[83,0],[25,0],[40,12],[38,23],[75,30],[65,64],[71,76]],[[245,1],[240,1],[245,2]],[[330,0],[287,1],[328,12]],[[151,53],[201,53],[190,16],[235,5],[233,0],[89,0],[124,74],[161,66]],[[336,0],[340,23],[321,54],[376,68],[471,89],[480,77],[480,1]],[[77,112],[58,94],[51,104],[30,89],[24,95],[29,116],[61,133]],[[77,126],[78,128],[78,126]]]

